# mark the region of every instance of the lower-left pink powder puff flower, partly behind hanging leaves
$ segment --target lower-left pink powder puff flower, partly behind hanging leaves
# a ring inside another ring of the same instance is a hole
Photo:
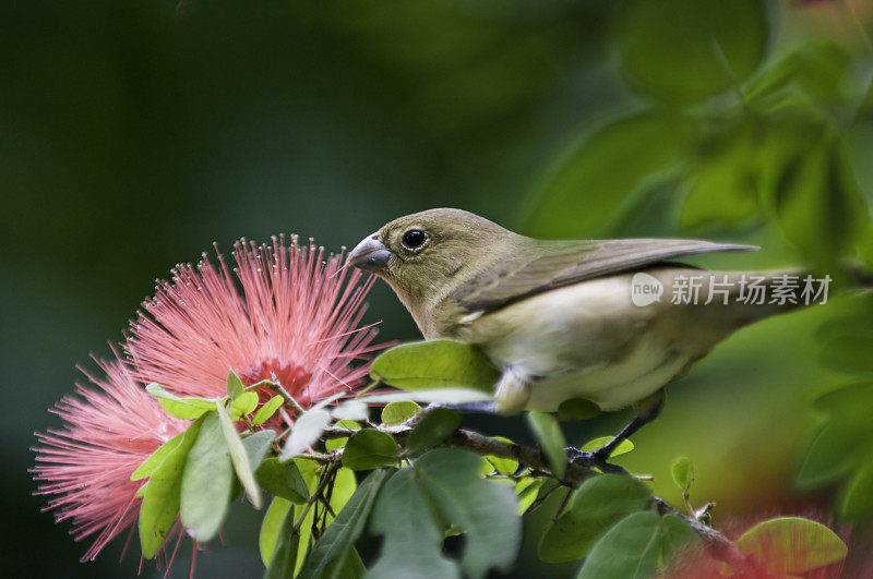
[[[142,498],[135,495],[144,481],[131,481],[131,474],[188,426],[136,384],[124,362],[97,363],[105,377],[82,370],[91,385],[76,385],[76,395],[52,410],[63,427],[37,433],[41,446],[33,469],[36,494],[52,497],[46,509],[55,509],[59,522],[72,520],[76,541],[94,536],[83,562],[136,521]]]

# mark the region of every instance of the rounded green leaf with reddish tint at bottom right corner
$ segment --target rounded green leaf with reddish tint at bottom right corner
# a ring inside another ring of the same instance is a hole
[[[804,574],[841,560],[848,553],[846,543],[834,531],[801,517],[760,522],[737,540],[737,548],[779,576]]]

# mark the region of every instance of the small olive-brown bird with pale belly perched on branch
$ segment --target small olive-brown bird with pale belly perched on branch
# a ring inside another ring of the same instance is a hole
[[[384,279],[426,340],[480,349],[501,372],[499,413],[554,412],[578,399],[602,411],[635,406],[634,419],[606,445],[576,453],[606,466],[624,438],[658,415],[669,382],[737,329],[809,301],[801,293],[812,291],[812,278],[804,289],[799,272],[710,272],[675,262],[757,249],[686,239],[540,240],[463,209],[434,208],[384,225],[346,263]],[[813,290],[821,294],[821,284]]]

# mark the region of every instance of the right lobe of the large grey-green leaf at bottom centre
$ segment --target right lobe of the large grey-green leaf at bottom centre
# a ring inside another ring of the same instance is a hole
[[[416,481],[442,521],[463,531],[461,568],[479,578],[491,568],[509,570],[522,540],[511,486],[479,474],[481,457],[455,448],[438,448],[414,463]]]

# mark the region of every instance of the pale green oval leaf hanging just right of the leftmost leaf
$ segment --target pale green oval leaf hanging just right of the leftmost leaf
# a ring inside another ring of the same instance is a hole
[[[218,532],[234,492],[234,467],[216,413],[204,417],[182,471],[181,520],[194,541]]]

